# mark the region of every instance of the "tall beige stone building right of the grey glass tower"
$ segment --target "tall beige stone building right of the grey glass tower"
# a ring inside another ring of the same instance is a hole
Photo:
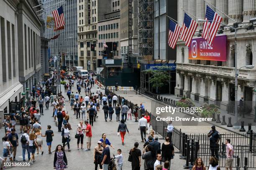
[[[77,38],[79,66],[86,70],[97,67],[97,23],[104,20],[104,14],[110,12],[110,0],[77,1]],[[94,51],[91,45],[95,45]]]

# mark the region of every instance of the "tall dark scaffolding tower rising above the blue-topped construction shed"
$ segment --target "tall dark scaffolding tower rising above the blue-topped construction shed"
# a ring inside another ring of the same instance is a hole
[[[153,0],[139,0],[139,55],[145,59],[153,58],[153,17],[154,2]]]

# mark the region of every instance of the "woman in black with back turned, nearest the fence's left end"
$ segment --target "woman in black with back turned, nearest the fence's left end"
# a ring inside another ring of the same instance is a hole
[[[165,138],[165,142],[162,144],[162,158],[164,159],[164,161],[168,160],[169,161],[169,165],[171,165],[171,160],[174,157],[174,147],[173,144],[170,143],[170,138],[166,137]],[[170,169],[170,167],[168,167]]]

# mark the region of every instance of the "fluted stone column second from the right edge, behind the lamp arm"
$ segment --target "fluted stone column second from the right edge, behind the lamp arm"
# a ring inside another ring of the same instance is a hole
[[[228,16],[236,22],[242,22],[243,0],[228,0]],[[228,19],[228,24],[235,23],[233,20]]]

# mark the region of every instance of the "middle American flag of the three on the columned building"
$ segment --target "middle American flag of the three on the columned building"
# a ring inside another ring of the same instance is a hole
[[[185,41],[185,45],[188,47],[190,45],[193,35],[195,34],[197,25],[198,24],[195,22],[195,20],[192,20],[192,18],[190,18],[186,13],[184,14],[184,22],[182,26],[180,39]]]

